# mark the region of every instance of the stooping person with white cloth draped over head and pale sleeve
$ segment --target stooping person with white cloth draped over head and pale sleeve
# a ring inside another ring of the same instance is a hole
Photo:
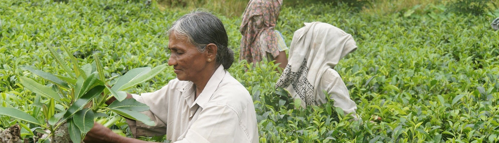
[[[296,30],[289,47],[288,64],[276,87],[286,88],[293,98],[302,100],[302,106],[327,102],[323,90],[334,106],[345,113],[354,112],[356,104],[348,89],[332,69],[346,54],[357,49],[351,34],[323,22],[305,22]]]

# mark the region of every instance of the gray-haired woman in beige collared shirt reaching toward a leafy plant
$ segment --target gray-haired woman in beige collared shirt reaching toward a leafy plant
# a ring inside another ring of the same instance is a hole
[[[150,106],[154,126],[128,120],[135,137],[166,134],[171,142],[258,142],[256,113],[248,90],[226,71],[234,62],[222,21],[204,11],[176,20],[167,34],[168,64],[177,78],[161,89],[129,94]],[[147,142],[96,124],[85,142]]]

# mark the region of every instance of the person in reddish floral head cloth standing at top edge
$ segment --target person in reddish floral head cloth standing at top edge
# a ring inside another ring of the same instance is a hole
[[[276,60],[284,68],[287,64],[287,49],[284,38],[274,30],[282,0],[250,0],[246,6],[240,31],[241,59],[258,62],[262,59]]]

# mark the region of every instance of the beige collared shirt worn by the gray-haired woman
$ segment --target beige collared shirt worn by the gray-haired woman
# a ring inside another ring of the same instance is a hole
[[[142,113],[154,126],[128,120],[135,137],[167,135],[181,142],[258,142],[256,112],[248,90],[220,65],[194,100],[195,86],[177,78],[137,101],[151,107]]]

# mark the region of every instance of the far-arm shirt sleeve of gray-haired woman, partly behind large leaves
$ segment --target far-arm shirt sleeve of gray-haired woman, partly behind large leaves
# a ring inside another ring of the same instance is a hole
[[[168,88],[168,84],[163,88],[156,90],[154,92],[142,93],[141,95],[132,94],[132,97],[137,101],[147,104],[150,109],[146,111],[142,111],[141,113],[149,116],[152,121],[154,121],[155,125],[147,125],[142,121],[135,121],[127,119],[130,130],[132,131],[134,137],[139,136],[158,136],[166,134],[166,124],[161,120],[163,116],[161,114],[168,114],[167,105],[165,103],[158,104],[156,102],[164,102],[166,99],[166,92]],[[157,115],[154,113],[154,109],[162,110],[161,114]]]

